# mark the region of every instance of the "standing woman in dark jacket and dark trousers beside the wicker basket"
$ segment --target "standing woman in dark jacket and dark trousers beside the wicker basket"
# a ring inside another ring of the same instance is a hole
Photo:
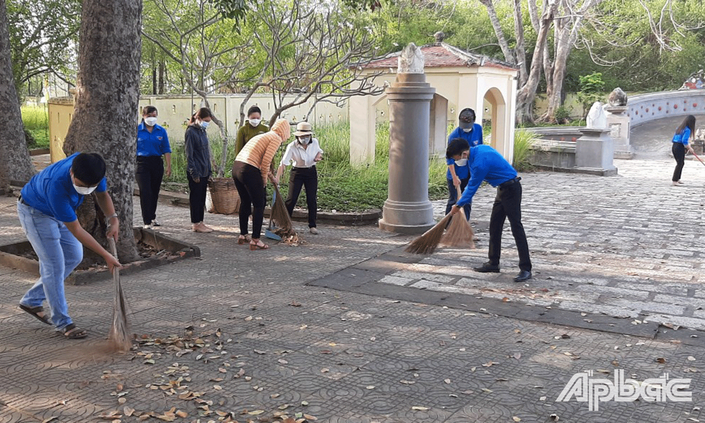
[[[186,178],[188,179],[188,200],[191,209],[191,229],[194,232],[212,232],[203,223],[206,207],[208,178],[211,177],[211,154],[208,147],[206,128],[213,114],[207,107],[199,109],[188,123],[184,147],[186,150]]]

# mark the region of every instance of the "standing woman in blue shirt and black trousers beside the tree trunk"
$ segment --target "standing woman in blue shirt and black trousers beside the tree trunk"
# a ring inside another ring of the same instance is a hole
[[[145,106],[142,122],[137,126],[137,185],[140,187],[140,209],[145,228],[161,226],[157,221],[157,200],[161,180],[171,176],[171,147],[166,129],[157,125],[157,108]]]

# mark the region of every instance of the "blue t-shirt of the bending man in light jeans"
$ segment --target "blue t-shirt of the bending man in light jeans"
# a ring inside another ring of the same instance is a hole
[[[71,165],[73,159],[80,153],[71,154],[66,159],[50,164],[43,171],[32,176],[32,179],[22,188],[22,200],[28,206],[62,222],[73,222],[78,219],[76,209],[83,202],[73,188],[71,182]],[[98,184],[97,192],[105,192],[108,184],[103,178]]]

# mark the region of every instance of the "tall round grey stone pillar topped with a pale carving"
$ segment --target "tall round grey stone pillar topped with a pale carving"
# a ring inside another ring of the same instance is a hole
[[[426,82],[421,50],[410,43],[399,56],[389,99],[389,188],[379,228],[424,233],[434,226],[429,201],[429,116],[436,90]]]

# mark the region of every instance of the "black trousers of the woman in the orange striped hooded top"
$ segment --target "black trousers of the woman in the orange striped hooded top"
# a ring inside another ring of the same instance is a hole
[[[266,191],[262,172],[244,161],[233,163],[233,180],[240,195],[240,235],[247,235],[247,221],[252,213],[252,238],[259,239],[262,235],[262,220],[264,219],[264,203]]]

